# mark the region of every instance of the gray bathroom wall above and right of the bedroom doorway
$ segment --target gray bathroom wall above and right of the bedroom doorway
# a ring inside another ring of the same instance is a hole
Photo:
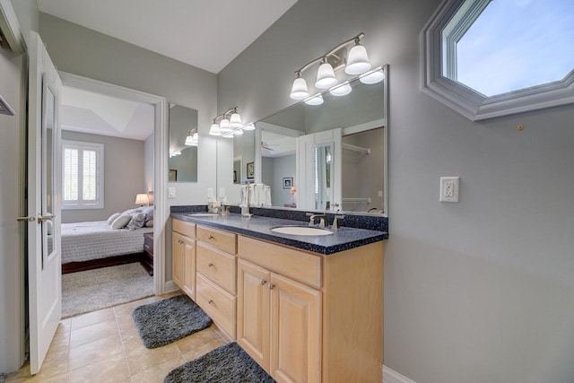
[[[165,97],[198,112],[197,182],[170,183],[176,197],[169,205],[206,204],[207,187],[216,186],[216,140],[208,135],[216,113],[217,79],[211,74],[152,51],[135,47],[46,13],[39,15],[40,35],[58,70]],[[166,151],[167,152],[167,151]],[[165,169],[167,177],[167,169]],[[157,190],[154,191],[157,194]],[[167,194],[167,190],[163,190]],[[166,235],[166,281],[171,280],[170,221],[154,222]]]

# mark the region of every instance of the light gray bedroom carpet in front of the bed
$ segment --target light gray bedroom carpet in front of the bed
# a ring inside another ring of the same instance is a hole
[[[62,318],[153,295],[153,277],[139,263],[62,275]]]

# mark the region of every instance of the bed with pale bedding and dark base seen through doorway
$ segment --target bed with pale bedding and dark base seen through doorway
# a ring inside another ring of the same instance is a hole
[[[134,210],[130,213],[141,212]],[[113,229],[109,221],[63,223],[62,274],[143,262],[146,232],[153,232],[153,227]]]

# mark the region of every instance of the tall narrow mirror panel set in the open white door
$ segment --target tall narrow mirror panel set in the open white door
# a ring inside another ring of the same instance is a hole
[[[46,82],[46,79],[44,79]],[[55,124],[56,95],[44,83],[42,100],[42,207],[41,215],[54,215],[54,164],[55,164]],[[56,254],[54,224],[51,220],[41,222],[42,232],[42,265],[47,265],[48,258]]]

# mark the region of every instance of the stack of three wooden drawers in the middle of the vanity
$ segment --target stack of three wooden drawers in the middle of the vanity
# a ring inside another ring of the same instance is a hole
[[[196,303],[235,339],[237,235],[197,225],[196,239]]]

